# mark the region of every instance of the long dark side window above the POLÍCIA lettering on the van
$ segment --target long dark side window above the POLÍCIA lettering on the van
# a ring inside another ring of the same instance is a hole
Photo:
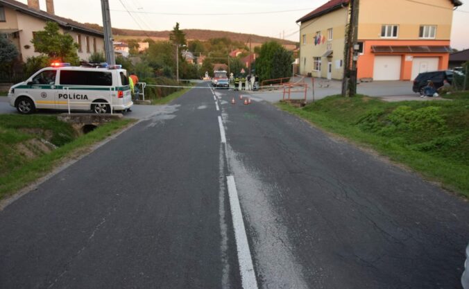
[[[112,73],[103,71],[60,71],[60,85],[112,86]]]

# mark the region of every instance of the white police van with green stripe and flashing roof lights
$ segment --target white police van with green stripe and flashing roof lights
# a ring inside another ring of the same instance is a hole
[[[106,66],[106,67],[103,67]],[[120,65],[71,67],[54,62],[8,91],[10,105],[21,114],[37,109],[92,110],[96,114],[133,106],[127,71]]]

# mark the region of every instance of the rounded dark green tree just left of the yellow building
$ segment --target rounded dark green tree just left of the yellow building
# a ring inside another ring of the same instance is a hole
[[[256,74],[261,80],[291,76],[293,53],[278,42],[262,44],[256,59]]]

